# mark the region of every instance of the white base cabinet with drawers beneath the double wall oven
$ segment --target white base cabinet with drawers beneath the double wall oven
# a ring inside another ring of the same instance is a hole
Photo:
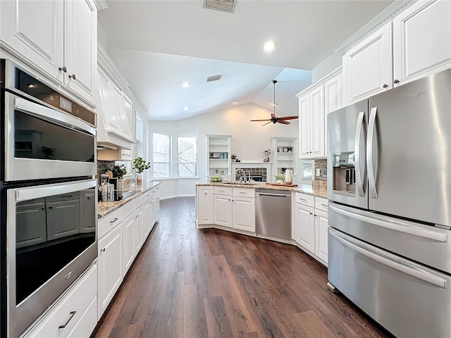
[[[89,337],[97,325],[97,263],[23,338]]]

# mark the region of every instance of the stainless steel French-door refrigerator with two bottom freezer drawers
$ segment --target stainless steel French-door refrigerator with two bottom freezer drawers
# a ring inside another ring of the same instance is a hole
[[[397,337],[451,337],[451,69],[328,115],[328,280]]]

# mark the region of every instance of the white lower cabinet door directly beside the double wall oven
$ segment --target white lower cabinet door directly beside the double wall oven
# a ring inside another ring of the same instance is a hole
[[[99,240],[99,287],[97,315],[100,319],[106,306],[123,280],[123,223]]]

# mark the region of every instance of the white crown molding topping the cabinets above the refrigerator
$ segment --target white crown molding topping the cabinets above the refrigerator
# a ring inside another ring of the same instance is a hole
[[[360,28],[353,35],[348,37],[340,46],[334,49],[335,53],[345,54],[349,49],[352,48],[355,44],[359,43],[370,35],[372,32],[377,30],[379,27],[385,25],[390,20],[393,20],[396,15],[402,13],[407,8],[415,4],[420,0],[395,0],[393,4],[385,8],[381,13],[376,15],[369,23],[366,23],[364,27]]]

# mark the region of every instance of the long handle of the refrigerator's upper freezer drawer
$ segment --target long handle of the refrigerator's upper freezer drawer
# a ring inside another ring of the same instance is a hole
[[[421,229],[414,229],[412,227],[409,227],[409,225],[405,225],[404,223],[396,222],[394,220],[390,221],[378,220],[376,218],[359,215],[358,213],[351,213],[350,211],[342,210],[340,208],[337,208],[336,206],[329,206],[329,208],[331,211],[334,211],[335,213],[340,213],[341,215],[354,218],[356,220],[362,220],[362,222],[371,223],[373,225],[378,225],[379,227],[385,227],[387,229],[404,232],[406,234],[413,234],[414,236],[433,239],[434,241],[437,242],[447,243],[446,234],[440,234],[439,232],[432,232]]]

